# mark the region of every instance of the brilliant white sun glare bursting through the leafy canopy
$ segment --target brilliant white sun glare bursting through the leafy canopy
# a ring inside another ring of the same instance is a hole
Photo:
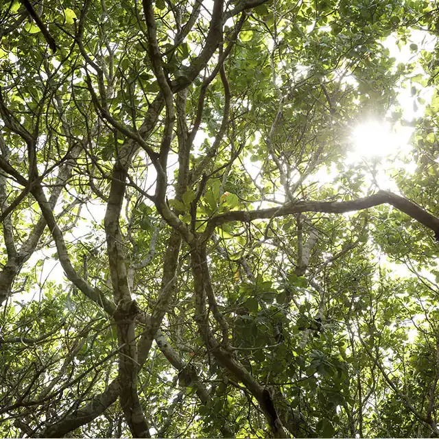
[[[398,150],[401,141],[390,123],[378,121],[361,123],[353,130],[351,139],[353,153],[362,158],[390,156]]]

